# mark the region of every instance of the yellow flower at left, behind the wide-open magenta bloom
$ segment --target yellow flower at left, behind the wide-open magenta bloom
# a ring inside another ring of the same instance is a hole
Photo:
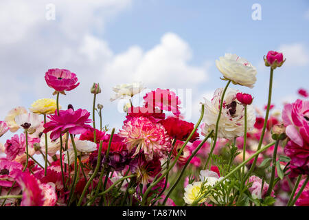
[[[57,109],[56,100],[52,98],[41,98],[32,103],[30,111],[37,114],[52,114]],[[59,109],[61,107],[59,106]]]

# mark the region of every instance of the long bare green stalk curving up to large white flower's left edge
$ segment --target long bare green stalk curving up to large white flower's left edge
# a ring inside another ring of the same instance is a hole
[[[187,145],[187,142],[189,142],[192,138],[192,135],[194,135],[196,129],[198,128],[198,126],[201,124],[201,121],[203,119],[203,115],[204,115],[204,111],[205,111],[205,107],[204,104],[202,104],[202,109],[201,109],[201,116],[198,120],[198,122],[196,123],[196,125],[194,126],[193,131],[190,133],[189,137],[187,137],[187,140],[185,140],[185,143],[183,143],[183,146],[181,146],[180,151],[178,152],[178,154],[176,155],[176,158],[174,159],[174,162],[172,163],[172,166],[170,166],[168,169],[165,170],[165,172],[161,175],[161,177],[159,177],[156,181],[153,181],[150,186],[147,188],[146,192],[143,195],[143,198],[141,199],[141,206],[144,206],[146,203],[146,198],[148,193],[150,192],[150,190],[152,189],[152,187],[156,186],[159,181],[161,181],[161,179],[163,179],[163,177],[165,177],[165,175],[168,174],[168,172],[170,172],[170,170],[172,170],[172,168],[175,166],[177,160],[179,159],[179,157],[181,156],[181,153],[183,153],[183,149],[185,148],[185,146]]]

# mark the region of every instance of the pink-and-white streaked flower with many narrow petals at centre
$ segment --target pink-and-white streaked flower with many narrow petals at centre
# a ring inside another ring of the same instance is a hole
[[[146,159],[151,160],[154,156],[165,156],[170,150],[170,137],[164,126],[145,117],[132,118],[122,126],[118,135],[124,137],[128,151],[135,152],[133,157],[143,152]]]

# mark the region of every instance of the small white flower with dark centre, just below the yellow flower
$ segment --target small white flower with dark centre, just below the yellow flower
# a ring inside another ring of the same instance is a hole
[[[35,113],[16,115],[15,122],[23,127],[23,129],[27,130],[29,134],[34,133],[41,124],[41,120],[38,119],[38,114]]]

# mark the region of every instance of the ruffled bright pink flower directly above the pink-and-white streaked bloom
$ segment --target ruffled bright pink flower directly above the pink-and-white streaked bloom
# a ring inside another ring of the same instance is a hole
[[[181,100],[170,89],[156,89],[155,91],[150,91],[144,96],[145,107],[150,107],[155,109],[158,107],[161,110],[171,111],[174,115],[180,115]]]

